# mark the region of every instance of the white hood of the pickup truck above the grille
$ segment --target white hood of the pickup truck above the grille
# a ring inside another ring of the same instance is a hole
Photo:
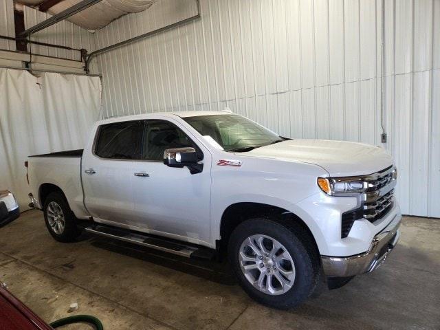
[[[393,157],[385,149],[347,141],[287,140],[245,154],[315,164],[331,177],[367,175],[393,165]]]

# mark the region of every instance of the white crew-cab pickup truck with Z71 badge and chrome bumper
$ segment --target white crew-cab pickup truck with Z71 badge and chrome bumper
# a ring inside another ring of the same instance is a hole
[[[87,230],[192,258],[228,255],[243,289],[272,307],[302,303],[322,278],[375,270],[399,239],[384,149],[287,139],[223,111],[102,120],[84,150],[26,164],[54,239]]]

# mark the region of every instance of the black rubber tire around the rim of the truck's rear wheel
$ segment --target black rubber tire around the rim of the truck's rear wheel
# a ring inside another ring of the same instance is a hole
[[[52,228],[50,220],[48,219],[47,208],[52,202],[56,203],[56,205],[61,208],[61,212],[64,216],[64,228],[58,233]],[[74,242],[81,234],[81,230],[79,230],[77,226],[75,214],[70,209],[69,204],[61,192],[51,192],[49,196],[47,196],[44,202],[43,212],[47,230],[49,230],[50,234],[56,239],[56,241],[63,243]]]

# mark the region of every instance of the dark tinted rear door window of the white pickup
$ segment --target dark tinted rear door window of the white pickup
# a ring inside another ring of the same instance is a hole
[[[141,159],[143,120],[104,124],[98,131],[95,154],[107,159]]]

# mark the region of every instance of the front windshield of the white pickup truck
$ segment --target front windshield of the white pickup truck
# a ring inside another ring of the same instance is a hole
[[[197,115],[182,118],[225,151],[245,152],[284,139],[241,115]]]

